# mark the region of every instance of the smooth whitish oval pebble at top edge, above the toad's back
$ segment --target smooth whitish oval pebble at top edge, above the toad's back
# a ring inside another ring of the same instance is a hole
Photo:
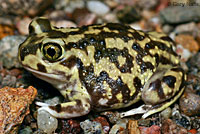
[[[110,8],[101,1],[87,1],[87,8],[90,12],[103,16],[110,11]]]

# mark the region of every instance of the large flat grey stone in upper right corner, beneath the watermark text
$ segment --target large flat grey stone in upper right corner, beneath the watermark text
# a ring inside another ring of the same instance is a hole
[[[200,21],[199,6],[170,6],[160,12],[162,23],[179,24]]]

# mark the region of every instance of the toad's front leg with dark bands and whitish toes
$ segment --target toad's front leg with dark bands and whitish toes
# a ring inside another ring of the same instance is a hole
[[[46,103],[36,102],[41,106],[39,110],[45,110],[56,118],[73,118],[86,115],[90,112],[89,98],[80,96],[79,99],[75,99],[70,102],[60,103],[56,105],[48,105]]]

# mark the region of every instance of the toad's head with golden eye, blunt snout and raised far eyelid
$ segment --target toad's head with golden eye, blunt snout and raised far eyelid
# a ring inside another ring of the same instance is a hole
[[[47,82],[68,80],[67,76],[73,72],[68,61],[70,54],[64,49],[65,35],[51,26],[48,19],[34,19],[29,25],[29,36],[19,46],[19,61],[25,69]]]

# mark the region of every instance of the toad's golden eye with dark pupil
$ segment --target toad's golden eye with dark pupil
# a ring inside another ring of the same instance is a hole
[[[57,43],[46,43],[42,48],[43,55],[50,61],[58,60],[62,55],[62,48]]]

